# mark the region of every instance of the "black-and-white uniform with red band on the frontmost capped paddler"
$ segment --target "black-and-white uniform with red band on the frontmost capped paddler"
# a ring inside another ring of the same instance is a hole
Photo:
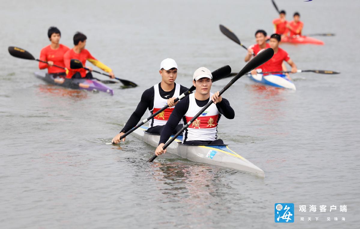
[[[165,143],[176,128],[177,123],[181,120],[184,123],[189,122],[208,102],[211,101],[211,96],[208,100],[197,100],[195,94],[182,99],[172,111],[169,120],[164,126],[159,144]],[[211,104],[208,109],[204,111],[183,133],[183,144],[186,145],[222,145],[224,142],[217,139],[217,125],[221,115],[228,119],[233,119],[235,112],[231,108],[227,99],[222,98],[222,101],[217,104]]]

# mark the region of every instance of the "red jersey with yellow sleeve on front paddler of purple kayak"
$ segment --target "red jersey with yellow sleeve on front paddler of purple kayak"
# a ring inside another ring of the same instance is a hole
[[[80,53],[74,52],[73,49],[70,49],[67,51],[64,55],[64,63],[66,68],[69,70],[66,78],[70,79],[76,72],[79,72],[81,77],[84,78],[86,76],[86,69],[79,68],[79,69],[71,69],[70,68],[70,60],[71,59],[77,59],[80,60],[82,63],[82,66],[85,67],[86,60],[90,61],[92,64],[94,64],[96,67],[101,68],[105,72],[112,72],[111,68],[107,67],[105,64],[101,63],[100,61],[96,60],[94,56],[90,54],[89,51],[86,49],[81,50]]]

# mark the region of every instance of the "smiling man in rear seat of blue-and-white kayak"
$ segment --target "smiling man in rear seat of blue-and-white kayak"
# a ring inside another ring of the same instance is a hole
[[[245,59],[244,59],[245,62],[248,62],[251,59],[251,57],[253,56],[253,54],[257,55],[262,50],[270,48],[269,43],[266,43],[266,36],[267,36],[267,33],[262,29],[259,29],[255,32],[256,44],[252,45],[248,48],[248,54],[245,56]],[[287,70],[284,63],[282,64],[282,68],[283,68],[283,71]],[[262,69],[262,65],[260,65],[256,69]],[[251,71],[251,74],[253,74],[253,75],[257,74],[256,69],[253,69]]]

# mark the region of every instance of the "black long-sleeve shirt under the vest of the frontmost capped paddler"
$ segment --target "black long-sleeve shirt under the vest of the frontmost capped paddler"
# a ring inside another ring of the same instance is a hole
[[[204,107],[209,102],[209,99],[207,100],[195,99],[195,101],[199,107]],[[177,124],[179,124],[180,120],[184,117],[184,115],[188,111],[189,103],[190,103],[189,96],[186,96],[184,99],[182,99],[180,102],[176,104],[174,110],[172,111],[169,117],[169,120],[167,120],[167,123],[165,124],[161,132],[159,144],[165,143],[170,138],[172,131],[175,129]],[[235,117],[234,109],[230,106],[230,102],[225,98],[222,98],[221,102],[216,104],[216,108],[217,110],[219,110],[220,113],[219,119],[221,114],[228,119],[233,119]],[[186,121],[184,123],[186,124]]]

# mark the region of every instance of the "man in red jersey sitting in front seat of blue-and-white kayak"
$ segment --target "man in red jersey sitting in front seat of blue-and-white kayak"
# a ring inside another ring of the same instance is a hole
[[[282,63],[286,61],[291,66],[291,72],[296,73],[297,67],[290,59],[287,52],[279,48],[281,38],[279,34],[274,33],[270,37],[270,47],[274,49],[274,56],[265,62],[262,66],[262,72],[281,72],[283,70]],[[274,73],[276,74],[276,73]],[[280,74],[280,73],[279,73]],[[290,78],[290,77],[288,77]]]

